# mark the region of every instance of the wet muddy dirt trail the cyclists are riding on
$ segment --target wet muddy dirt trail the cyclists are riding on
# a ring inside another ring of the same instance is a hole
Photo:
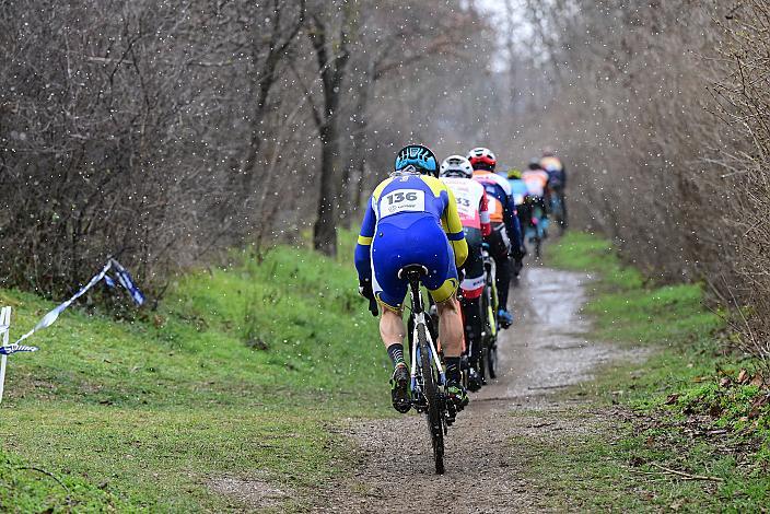
[[[559,418],[565,400],[552,393],[588,378],[596,364],[623,357],[582,336],[588,328],[580,313],[585,280],[548,268],[526,271],[512,294],[515,328],[502,332],[500,378],[471,395],[450,429],[444,476],[433,472],[422,417],[357,422],[346,434],[359,445],[359,467],[325,490],[314,512],[492,513],[536,505],[548,491],[521,478],[526,463],[517,462],[513,437],[590,430]]]

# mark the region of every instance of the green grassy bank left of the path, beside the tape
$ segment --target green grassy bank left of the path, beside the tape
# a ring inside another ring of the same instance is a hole
[[[290,247],[232,262],[182,278],[133,320],[72,309],[35,336],[39,352],[11,357],[0,510],[243,507],[212,481],[303,491],[337,472],[326,424],[388,406],[354,271]],[[54,306],[8,290],[0,305],[13,336]]]

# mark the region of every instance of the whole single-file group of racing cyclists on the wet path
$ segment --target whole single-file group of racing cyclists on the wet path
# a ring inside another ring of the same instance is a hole
[[[481,296],[488,282],[482,256],[494,261],[493,323],[509,328],[514,323],[509,289],[527,255],[526,227],[547,224],[550,206],[559,202],[560,223],[565,223],[565,171],[550,149],[524,173],[512,170],[504,176],[495,173],[497,164],[486,148],[439,164],[430,149],[410,144],[366,206],[355,247],[359,292],[382,311],[380,334],[393,362],[392,400],[399,412],[411,408],[401,320],[408,284],[399,270],[409,265],[427,270],[422,283],[438,311],[445,394],[462,410],[468,404],[466,385],[478,390],[485,382],[479,369],[486,315]],[[539,219],[533,219],[535,212]]]

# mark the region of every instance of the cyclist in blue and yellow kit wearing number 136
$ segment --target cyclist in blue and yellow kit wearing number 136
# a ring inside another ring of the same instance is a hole
[[[408,283],[398,278],[407,265],[422,265],[422,278],[439,308],[439,332],[446,364],[446,393],[457,409],[468,404],[460,384],[463,322],[455,299],[457,267],[468,255],[454,195],[441,180],[435,155],[411,144],[396,157],[395,172],[374,189],[355,247],[359,292],[382,307],[380,335],[393,361],[393,406],[407,412],[409,371],[404,360],[401,320]]]

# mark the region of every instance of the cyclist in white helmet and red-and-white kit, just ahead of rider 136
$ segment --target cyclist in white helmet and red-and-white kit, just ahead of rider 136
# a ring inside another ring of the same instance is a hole
[[[474,168],[470,161],[462,155],[451,155],[441,163],[441,182],[454,194],[457,202],[465,241],[468,243],[468,258],[463,265],[465,279],[460,283],[463,297],[460,306],[465,320],[466,347],[468,350],[468,388],[478,390],[481,377],[478,373],[481,352],[481,292],[485,284],[481,244],[483,237],[492,232],[489,222],[487,192],[481,184],[472,179]]]

